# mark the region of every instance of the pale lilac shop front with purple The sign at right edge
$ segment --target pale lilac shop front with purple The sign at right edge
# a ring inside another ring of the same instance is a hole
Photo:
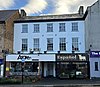
[[[90,79],[100,78],[100,51],[90,51]]]

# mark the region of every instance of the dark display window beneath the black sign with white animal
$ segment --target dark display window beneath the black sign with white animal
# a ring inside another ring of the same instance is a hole
[[[59,78],[87,78],[88,64],[87,62],[58,62],[57,76]]]

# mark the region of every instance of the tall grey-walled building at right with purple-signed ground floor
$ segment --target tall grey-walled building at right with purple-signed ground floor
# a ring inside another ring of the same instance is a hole
[[[89,6],[85,19],[85,48],[90,52],[90,77],[100,78],[100,0]]]

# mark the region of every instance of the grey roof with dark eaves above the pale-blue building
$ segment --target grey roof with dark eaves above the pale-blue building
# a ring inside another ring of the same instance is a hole
[[[26,16],[15,20],[15,23],[20,22],[38,22],[38,21],[55,21],[55,20],[74,20],[82,19],[84,16],[80,14],[62,14],[62,15],[43,15],[43,16]]]

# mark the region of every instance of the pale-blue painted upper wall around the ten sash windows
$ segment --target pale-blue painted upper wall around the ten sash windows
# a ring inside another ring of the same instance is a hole
[[[72,32],[72,22],[78,22],[79,31]],[[36,22],[36,23],[15,23],[14,24],[14,53],[21,51],[21,40],[23,38],[28,39],[28,51],[33,49],[33,38],[40,38],[40,52],[44,53],[47,50],[47,38],[53,38],[54,50],[48,51],[48,53],[57,53],[59,51],[59,38],[66,38],[66,51],[61,53],[71,53],[72,52],[72,37],[79,37],[79,52],[85,52],[85,42],[84,42],[84,21],[58,21],[53,23],[53,32],[47,32],[47,23],[51,22]],[[66,32],[59,32],[59,23],[66,23]],[[28,24],[28,33],[22,32],[22,24]],[[33,33],[33,24],[40,24],[40,33]]]

